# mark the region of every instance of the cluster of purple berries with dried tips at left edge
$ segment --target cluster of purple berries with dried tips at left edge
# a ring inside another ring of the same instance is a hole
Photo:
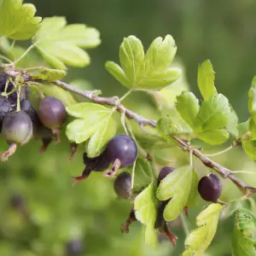
[[[22,146],[32,137],[42,139],[41,152],[54,137],[59,141],[59,129],[67,119],[60,100],[43,98],[37,112],[26,96],[20,97],[15,85],[4,75],[0,76],[0,92],[0,128],[3,139],[9,143],[9,150],[2,154],[3,161],[15,153],[18,144]]]

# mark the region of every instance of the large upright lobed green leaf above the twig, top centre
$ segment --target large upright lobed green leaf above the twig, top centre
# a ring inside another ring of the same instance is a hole
[[[119,49],[121,67],[107,61],[105,67],[113,77],[131,90],[161,90],[180,76],[178,68],[170,67],[177,46],[172,36],[156,38],[144,55],[143,44],[135,36],[124,38]]]

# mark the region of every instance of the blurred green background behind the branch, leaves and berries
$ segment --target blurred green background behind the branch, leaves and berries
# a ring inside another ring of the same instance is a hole
[[[125,88],[107,73],[104,63],[118,61],[122,39],[136,35],[148,48],[154,38],[170,33],[177,42],[177,56],[191,90],[199,96],[197,68],[199,63],[210,59],[217,73],[218,92],[230,99],[240,121],[247,119],[247,90],[256,74],[255,1],[33,0],[30,3],[36,5],[38,15],[64,15],[69,23],[85,23],[101,32],[102,44],[89,51],[90,66],[70,68],[67,81],[86,79],[92,87],[102,89],[104,96],[121,96]],[[137,93],[126,103],[137,113],[155,118],[150,96]],[[2,143],[1,151],[6,148],[7,144]],[[143,227],[137,223],[131,225],[128,235],[122,235],[119,227],[130,206],[114,195],[113,181],[102,177],[102,173],[93,173],[90,179],[72,187],[71,176],[79,175],[84,168],[83,148],[72,163],[67,161],[69,146],[64,138],[61,144],[51,144],[44,154],[39,154],[38,148],[39,143],[29,143],[19,148],[8,163],[1,164],[0,255],[164,256],[183,252],[185,234],[180,219],[172,224],[179,237],[175,248],[165,239],[155,250],[145,247]],[[156,154],[166,156],[167,161],[186,158],[176,148],[159,150]],[[253,161],[241,148],[214,159],[231,170],[255,170]],[[207,173],[200,163],[195,161],[195,164],[201,174]],[[241,177],[256,185],[253,174]],[[241,195],[232,183],[223,183],[224,201]],[[189,212],[189,229],[195,227],[195,216],[203,205],[201,201]],[[232,219],[220,221],[217,236],[205,255],[230,255],[232,225]]]

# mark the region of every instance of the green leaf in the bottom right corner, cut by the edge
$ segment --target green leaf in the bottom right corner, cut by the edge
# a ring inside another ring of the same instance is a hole
[[[253,240],[255,224],[256,217],[253,212],[244,208],[236,212],[236,224],[231,242],[232,256],[256,255],[256,241]]]

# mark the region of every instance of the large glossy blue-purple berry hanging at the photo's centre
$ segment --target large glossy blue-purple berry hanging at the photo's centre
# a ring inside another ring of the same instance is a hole
[[[118,135],[108,142],[105,154],[112,163],[119,160],[120,168],[131,166],[137,159],[137,144],[127,135]]]

